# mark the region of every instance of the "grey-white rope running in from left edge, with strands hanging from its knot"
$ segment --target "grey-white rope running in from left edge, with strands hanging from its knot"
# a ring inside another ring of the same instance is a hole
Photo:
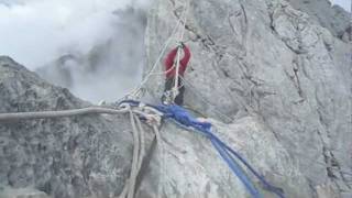
[[[130,121],[132,125],[132,136],[133,136],[133,154],[132,154],[131,173],[130,173],[129,179],[127,179],[125,182],[125,185],[119,198],[133,198],[135,193],[136,177],[142,167],[143,157],[145,155],[145,136],[144,136],[145,132],[136,114],[143,118],[146,118],[148,120],[152,120],[148,123],[153,125],[153,130],[155,132],[157,143],[161,143],[162,139],[156,127],[161,122],[161,118],[160,118],[161,113],[157,112],[156,110],[152,110],[152,108],[145,108],[145,109],[153,113],[147,113],[147,112],[135,110],[135,109],[132,110],[131,107],[125,103],[120,106],[119,108],[120,109],[88,107],[88,108],[62,110],[62,111],[0,113],[0,122],[13,122],[13,121],[32,120],[32,119],[53,119],[53,118],[75,117],[75,116],[94,114],[94,113],[118,114],[118,113],[130,112]]]

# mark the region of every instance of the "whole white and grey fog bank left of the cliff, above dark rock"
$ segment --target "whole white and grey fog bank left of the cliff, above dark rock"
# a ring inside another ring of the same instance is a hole
[[[147,8],[146,0],[0,0],[0,55],[82,99],[113,101],[141,78]]]

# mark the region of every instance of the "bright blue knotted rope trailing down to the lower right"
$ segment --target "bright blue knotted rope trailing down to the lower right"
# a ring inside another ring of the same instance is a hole
[[[138,107],[139,101],[134,100],[125,100],[123,102],[130,103],[131,106]],[[284,198],[283,189],[275,187],[267,183],[264,176],[260,175],[238,152],[228,146],[224,142],[222,142],[218,136],[216,136],[211,132],[211,123],[209,122],[200,122],[193,118],[193,116],[185,110],[184,108],[175,105],[145,105],[150,108],[154,108],[161,113],[163,113],[164,119],[173,119],[178,125],[184,129],[189,130],[189,128],[200,132],[206,138],[208,138],[215,148],[218,151],[221,158],[228,164],[230,169],[239,177],[239,179],[243,183],[248,191],[254,198],[261,198],[262,195],[255,188],[255,185],[251,182],[251,179],[246,176],[245,172],[241,168],[241,166],[237,163],[235,158],[238,158],[262,184],[263,188],[276,194],[279,198]]]

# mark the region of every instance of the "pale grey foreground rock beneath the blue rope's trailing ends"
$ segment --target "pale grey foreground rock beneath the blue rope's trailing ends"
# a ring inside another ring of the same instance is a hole
[[[283,188],[287,197],[311,197],[306,178],[287,151],[260,121],[252,117],[231,124],[207,121],[215,125],[217,135],[272,184]],[[156,197],[157,193],[162,197],[249,197],[242,183],[200,133],[166,123],[163,138],[163,150],[153,156],[138,197]],[[264,197],[275,197],[263,190],[256,178],[252,179]]]

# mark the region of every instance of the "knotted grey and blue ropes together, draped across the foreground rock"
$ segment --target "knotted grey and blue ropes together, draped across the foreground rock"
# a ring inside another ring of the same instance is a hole
[[[131,107],[138,109],[131,109]],[[139,172],[142,167],[142,161],[145,155],[145,138],[144,130],[142,128],[140,118],[134,113],[141,116],[146,119],[147,123],[153,127],[155,138],[157,143],[160,144],[160,151],[162,155],[161,161],[161,184],[163,184],[164,177],[164,166],[165,166],[165,156],[164,156],[164,146],[162,143],[161,134],[157,130],[157,124],[161,122],[161,116],[165,118],[173,118],[176,123],[184,124],[186,127],[193,127],[199,132],[206,134],[216,150],[219,152],[221,157],[227,162],[231,170],[238,175],[238,177],[242,180],[245,187],[249,189],[253,197],[261,197],[258,191],[255,189],[254,185],[250,182],[246,175],[240,169],[240,166],[234,162],[230,154],[239,158],[264,185],[264,188],[275,193],[278,197],[283,198],[283,190],[280,188],[274,187],[270,185],[263,176],[254,170],[250,166],[250,164],[235,151],[226,145],[220,139],[218,139],[215,134],[210,132],[211,124],[207,122],[198,122],[190,117],[190,114],[178,106],[151,106],[151,105],[142,105],[141,102],[127,100],[119,103],[120,109],[111,109],[111,108],[101,108],[101,107],[88,107],[81,109],[73,109],[73,110],[63,110],[63,111],[41,111],[41,112],[15,112],[15,113],[0,113],[0,122],[1,121],[19,121],[25,119],[47,119],[47,118],[61,118],[61,117],[72,117],[72,116],[81,116],[89,113],[123,113],[130,112],[130,121],[132,125],[132,135],[133,135],[133,156],[131,164],[131,173],[130,178],[127,179],[125,185],[120,198],[133,198],[135,193],[135,184]],[[135,124],[136,123],[136,124]],[[230,152],[230,153],[229,153]],[[157,196],[161,195],[161,188],[158,186]]]

